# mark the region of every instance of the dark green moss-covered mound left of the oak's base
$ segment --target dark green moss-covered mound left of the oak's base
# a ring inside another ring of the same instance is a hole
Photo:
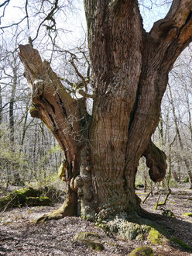
[[[40,196],[38,189],[25,188],[15,190],[0,199],[0,211],[15,206],[50,206],[52,202],[47,196]]]

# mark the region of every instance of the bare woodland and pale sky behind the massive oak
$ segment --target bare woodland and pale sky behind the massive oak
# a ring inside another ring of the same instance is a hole
[[[27,3],[27,5],[26,5]],[[170,3],[140,1],[146,28],[157,14],[163,16]],[[30,115],[30,89],[18,56],[18,45],[28,43],[31,36],[36,49],[51,62],[63,86],[76,98],[84,94],[84,81],[91,94],[91,69],[87,38],[84,32],[83,6],[63,2],[57,16],[49,16],[51,5],[46,1],[20,1],[15,9],[23,16],[9,19],[13,6],[2,6],[0,45],[0,185],[45,185],[58,180],[57,170],[63,156],[57,141],[39,119]],[[9,9],[10,8],[10,9]],[[24,11],[24,10],[27,10]],[[5,12],[5,13],[4,13]],[[64,12],[66,20],[60,22]],[[41,13],[41,16],[37,16]],[[47,14],[48,13],[48,14]],[[48,17],[48,18],[47,18]],[[57,17],[57,18],[56,18]],[[78,19],[77,19],[78,17]],[[79,18],[81,17],[81,19]],[[14,20],[14,21],[13,21]],[[34,26],[37,24],[37,26]],[[64,24],[64,25],[63,25]],[[62,28],[61,28],[62,26]],[[73,31],[73,32],[72,32]],[[167,177],[170,185],[187,182],[192,189],[192,47],[181,54],[170,72],[169,86],[163,98],[161,119],[155,144],[167,156]],[[87,99],[91,112],[91,98]],[[145,161],[141,159],[136,185],[151,188]]]

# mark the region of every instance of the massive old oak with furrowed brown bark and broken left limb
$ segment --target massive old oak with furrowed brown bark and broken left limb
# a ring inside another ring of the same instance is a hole
[[[19,56],[32,88],[32,116],[43,120],[63,150],[60,168],[67,199],[43,218],[77,213],[93,220],[119,213],[142,213],[135,195],[140,157],[159,182],[166,155],[152,142],[168,74],[192,40],[192,2],[173,0],[164,19],[149,33],[142,25],[137,0],[84,0],[93,71],[93,112],[84,97],[73,99],[50,63],[37,50],[20,45]]]

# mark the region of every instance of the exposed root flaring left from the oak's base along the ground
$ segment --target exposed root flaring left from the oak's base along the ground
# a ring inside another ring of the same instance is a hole
[[[60,219],[63,219],[65,216],[76,216],[76,215],[77,215],[77,193],[70,190],[70,192],[67,193],[67,197],[65,199],[65,202],[63,203],[63,206],[61,206],[59,209],[49,214],[40,216],[36,220],[33,220],[33,222],[42,223],[42,222],[46,222],[47,220],[60,220]]]

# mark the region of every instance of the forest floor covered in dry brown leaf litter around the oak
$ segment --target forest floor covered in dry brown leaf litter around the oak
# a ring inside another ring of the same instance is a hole
[[[158,223],[166,225],[170,235],[183,240],[192,247],[192,190],[188,185],[172,189],[172,194],[164,209],[154,210],[159,195],[149,195],[142,208],[151,213],[174,214],[164,216]],[[143,189],[138,189],[141,199],[146,197]],[[162,195],[160,202],[165,198]],[[149,240],[123,240],[115,234],[106,234],[94,223],[80,217],[65,217],[62,220],[51,220],[47,223],[34,224],[31,220],[57,209],[55,206],[36,206],[9,209],[0,212],[0,255],[128,255],[136,247],[151,247],[154,255],[192,255],[180,245],[173,242],[151,244]],[[104,251],[94,251],[81,241],[74,240],[79,232],[94,232],[100,235],[98,242],[104,245]],[[142,255],[142,254],[140,254]]]

